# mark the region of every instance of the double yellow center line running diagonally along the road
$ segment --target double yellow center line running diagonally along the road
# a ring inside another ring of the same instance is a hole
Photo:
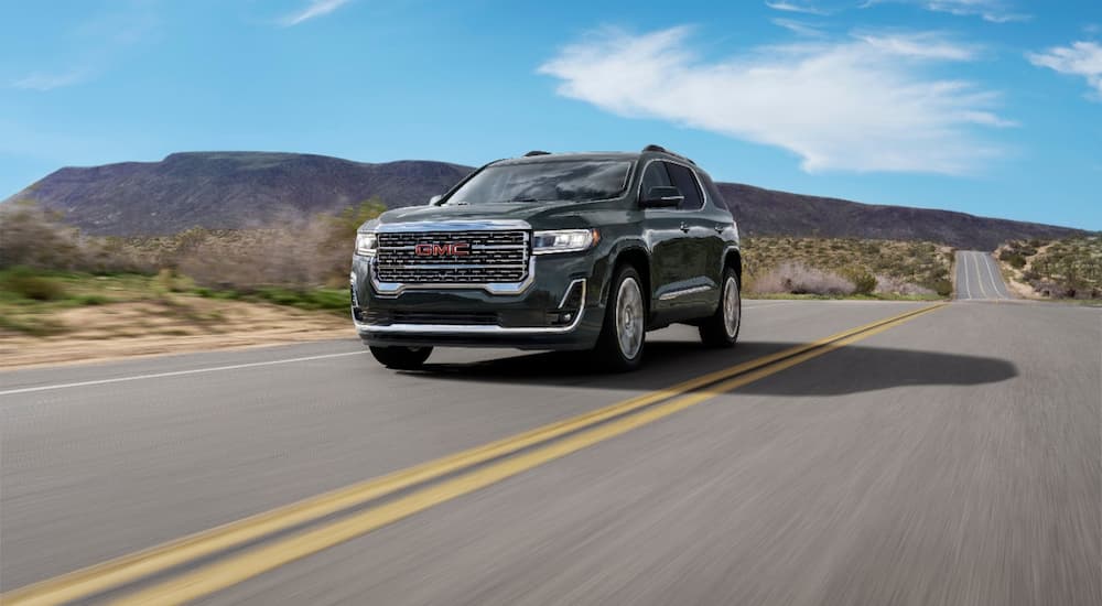
[[[338,518],[336,521],[260,543],[251,550],[215,560],[177,576],[170,576],[164,582],[126,595],[117,603],[181,604],[197,599],[651,423],[720,393],[867,338],[942,306],[943,304],[931,305],[873,322],[505,440],[64,574],[6,594],[0,602],[15,606],[64,604],[87,599],[154,574],[164,574],[227,550],[316,522],[326,516],[361,507],[401,490],[454,475],[381,505]],[[461,474],[464,470],[467,472]]]

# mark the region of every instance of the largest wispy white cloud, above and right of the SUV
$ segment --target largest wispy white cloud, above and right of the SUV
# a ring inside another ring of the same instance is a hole
[[[930,56],[858,39],[703,62],[687,46],[689,33],[605,30],[563,48],[539,72],[561,79],[564,97],[776,145],[811,172],[961,174],[1000,154],[973,132],[1009,125],[991,110],[997,95],[925,76],[950,54],[948,46]]]

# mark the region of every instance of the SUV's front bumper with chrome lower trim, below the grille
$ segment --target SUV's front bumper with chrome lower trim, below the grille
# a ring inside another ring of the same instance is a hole
[[[355,257],[356,331],[375,346],[592,348],[604,317],[603,267],[584,255],[533,257],[531,262],[528,281],[512,291],[419,284],[380,292],[371,280],[371,260]]]

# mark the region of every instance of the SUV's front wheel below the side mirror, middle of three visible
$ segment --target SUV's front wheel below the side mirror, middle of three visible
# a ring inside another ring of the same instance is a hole
[[[616,270],[601,336],[593,349],[594,360],[608,370],[625,372],[642,364],[647,340],[647,300],[642,290],[635,268],[623,266]]]

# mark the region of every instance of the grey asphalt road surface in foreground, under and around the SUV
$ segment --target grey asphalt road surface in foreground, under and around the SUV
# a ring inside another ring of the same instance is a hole
[[[1102,604],[1102,311],[752,301],[733,350],[651,337],[615,376],[355,339],[0,374],[0,589]]]

